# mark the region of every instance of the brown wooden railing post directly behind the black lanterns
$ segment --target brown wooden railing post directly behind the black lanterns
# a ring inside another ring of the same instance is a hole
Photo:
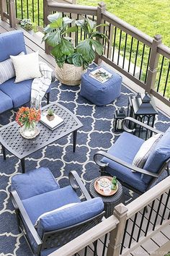
[[[152,43],[151,57],[149,61],[148,75],[146,80],[146,93],[151,93],[151,89],[154,89],[155,87],[159,59],[157,48],[158,45],[161,44],[161,42],[161,35],[155,35]]]

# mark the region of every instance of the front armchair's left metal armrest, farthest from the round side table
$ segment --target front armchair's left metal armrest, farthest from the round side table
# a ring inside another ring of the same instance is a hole
[[[24,223],[27,226],[27,229],[32,234],[33,239],[35,239],[37,246],[40,246],[40,244],[42,244],[42,240],[40,239],[40,236],[38,236],[37,231],[30,220],[30,217],[27,215],[27,212],[24,209],[24,205],[22,204],[22,201],[20,200],[17,191],[12,190],[11,195],[12,195],[12,201],[14,204],[14,208],[16,210],[19,210],[19,212],[22,215],[22,218],[24,219]]]

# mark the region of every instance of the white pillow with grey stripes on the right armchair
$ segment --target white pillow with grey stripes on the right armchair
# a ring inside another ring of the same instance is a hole
[[[138,153],[135,155],[133,159],[133,165],[138,166],[139,168],[143,168],[146,160],[148,159],[149,154],[155,148],[156,143],[162,137],[162,133],[158,133],[157,135],[153,135],[151,138],[143,142]],[[132,170],[133,171],[133,170]]]

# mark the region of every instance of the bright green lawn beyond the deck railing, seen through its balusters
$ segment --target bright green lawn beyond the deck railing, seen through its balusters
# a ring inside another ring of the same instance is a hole
[[[31,18],[32,22],[37,23],[39,17],[39,25],[42,27],[43,21],[43,13],[42,13],[42,1],[43,0],[22,0],[23,6],[23,15],[22,15],[22,6],[21,1],[16,0],[17,4],[17,17],[18,18],[27,18],[27,1],[28,1],[28,14]],[[77,0],[77,4],[84,5],[93,5],[97,6],[98,0]],[[166,46],[170,47],[170,36],[169,36],[169,17],[170,17],[170,5],[169,0],[104,0],[107,5],[107,11],[115,14],[117,17],[120,17],[122,20],[125,20],[130,25],[137,27],[139,30],[144,33],[154,36],[156,34],[162,35],[163,43]],[[38,9],[40,10],[38,14]],[[38,25],[38,24],[37,24]],[[115,40],[115,48],[119,46],[119,35],[120,30],[117,29],[117,35]],[[107,45],[107,43],[106,43]],[[125,53],[125,59],[130,59],[130,72],[133,73],[133,64],[136,64],[140,68],[141,59],[143,54],[143,43],[139,43],[138,46],[138,58],[136,59],[136,48],[137,48],[137,40],[133,40],[133,48],[132,54],[130,58],[130,46],[131,46],[131,37],[128,35],[127,40],[127,48]],[[125,33],[122,33],[122,40],[120,45],[120,55],[124,56],[124,48],[125,48]],[[105,53],[107,54],[107,53]],[[149,48],[146,46],[145,53],[143,56],[142,63],[142,74],[140,75],[140,80],[145,82],[146,80],[146,70],[148,67],[148,54]],[[115,60],[115,59],[114,59]],[[158,78],[161,70],[161,61],[162,56],[159,58],[158,64],[158,73],[156,76],[156,88],[158,87]],[[117,61],[115,61],[117,62]],[[120,59],[121,62],[121,59]],[[122,66],[121,63],[120,67]],[[158,92],[163,93],[164,87],[167,78],[167,70],[169,67],[169,60],[164,58],[164,66],[161,74],[161,81]],[[138,68],[135,70],[135,73],[138,72]],[[170,74],[169,74],[170,75]],[[170,98],[170,77],[168,77],[168,83],[166,87],[166,97]]]

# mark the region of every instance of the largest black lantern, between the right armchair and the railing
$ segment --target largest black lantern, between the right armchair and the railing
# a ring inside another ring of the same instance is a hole
[[[129,97],[128,115],[153,127],[158,114],[153,97],[148,93]]]

